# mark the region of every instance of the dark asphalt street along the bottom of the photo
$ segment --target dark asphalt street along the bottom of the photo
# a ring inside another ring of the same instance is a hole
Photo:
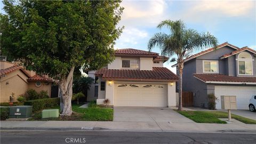
[[[1,144],[22,143],[256,143],[250,133],[14,131],[1,130]]]

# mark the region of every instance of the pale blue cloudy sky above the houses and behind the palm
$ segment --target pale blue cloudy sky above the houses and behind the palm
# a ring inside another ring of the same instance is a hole
[[[115,49],[148,51],[150,37],[161,31],[156,28],[158,23],[170,19],[183,20],[187,28],[198,32],[210,32],[219,44],[256,50],[256,1],[123,1],[121,5],[124,11],[118,26],[125,28]],[[1,12],[2,7],[1,3]],[[166,29],[162,32],[169,33]],[[161,54],[158,47],[152,51]],[[173,64],[165,62],[164,66],[175,73]]]

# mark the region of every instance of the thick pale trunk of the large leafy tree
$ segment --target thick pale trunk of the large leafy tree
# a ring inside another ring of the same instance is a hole
[[[75,67],[72,67],[69,71],[67,77],[62,77],[61,81],[59,81],[60,92],[62,93],[62,97],[60,98],[61,115],[70,116],[72,111],[71,99],[72,99],[72,86],[73,86],[73,74]]]

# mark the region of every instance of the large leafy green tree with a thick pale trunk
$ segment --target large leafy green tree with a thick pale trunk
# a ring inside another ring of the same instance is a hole
[[[3,1],[1,50],[28,70],[57,80],[61,114],[71,115],[73,74],[114,59],[121,1]]]

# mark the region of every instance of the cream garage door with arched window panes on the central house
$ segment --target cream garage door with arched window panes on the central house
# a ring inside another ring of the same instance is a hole
[[[166,107],[166,85],[116,83],[114,106]]]

